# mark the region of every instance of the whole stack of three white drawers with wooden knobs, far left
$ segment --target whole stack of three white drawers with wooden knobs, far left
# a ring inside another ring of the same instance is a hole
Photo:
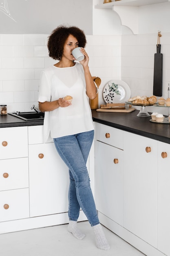
[[[29,217],[27,127],[0,129],[0,222]]]

